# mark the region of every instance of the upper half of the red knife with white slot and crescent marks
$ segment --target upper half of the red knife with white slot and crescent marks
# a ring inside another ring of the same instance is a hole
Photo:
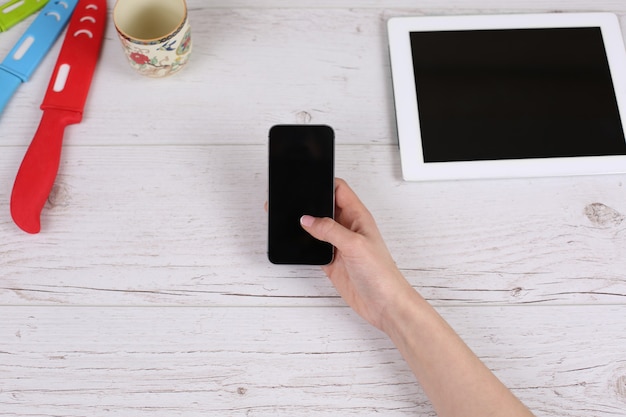
[[[100,56],[107,18],[106,0],[79,0],[43,99],[43,110],[82,112]]]

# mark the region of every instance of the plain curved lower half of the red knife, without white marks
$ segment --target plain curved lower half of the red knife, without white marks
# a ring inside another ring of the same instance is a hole
[[[66,110],[46,110],[11,193],[11,216],[28,233],[41,230],[40,215],[59,170],[65,126],[80,122],[82,114]]]

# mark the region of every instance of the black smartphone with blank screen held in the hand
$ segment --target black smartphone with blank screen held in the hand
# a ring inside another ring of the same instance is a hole
[[[326,125],[276,125],[269,132],[268,258],[327,265],[334,248],[300,225],[305,214],[334,217],[335,133]]]

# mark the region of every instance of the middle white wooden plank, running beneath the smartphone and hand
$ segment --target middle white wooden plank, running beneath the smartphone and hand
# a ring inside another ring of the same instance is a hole
[[[8,208],[23,152],[0,154],[2,304],[340,303],[266,260],[265,146],[68,145],[35,236]],[[406,183],[382,145],[339,145],[337,174],[436,303],[624,303],[626,176]]]

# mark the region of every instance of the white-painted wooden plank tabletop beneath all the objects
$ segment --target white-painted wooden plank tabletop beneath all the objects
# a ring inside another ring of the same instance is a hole
[[[109,2],[113,6],[113,0]],[[0,117],[0,416],[418,416],[385,336],[317,267],[266,259],[267,131],[326,123],[411,283],[537,415],[626,415],[626,175],[404,182],[386,20],[602,0],[189,0],[142,78],[108,22],[28,235],[9,214],[60,42]],[[110,12],[110,11],[109,11]],[[0,56],[32,18],[0,34]]]

